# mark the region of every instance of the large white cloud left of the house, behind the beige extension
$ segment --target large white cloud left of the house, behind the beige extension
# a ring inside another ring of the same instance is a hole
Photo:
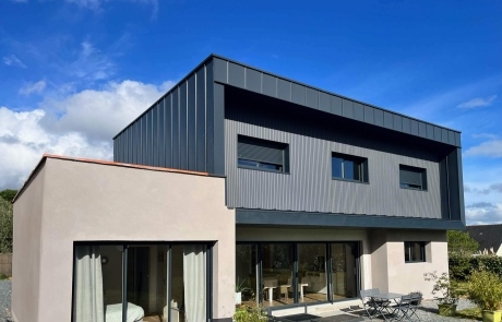
[[[44,153],[111,159],[112,136],[158,99],[163,85],[109,82],[46,98],[32,111],[0,107],[0,190],[17,189]]]

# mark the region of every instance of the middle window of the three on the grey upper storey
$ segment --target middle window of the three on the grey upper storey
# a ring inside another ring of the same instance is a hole
[[[331,166],[333,179],[368,182],[367,158],[333,153]]]

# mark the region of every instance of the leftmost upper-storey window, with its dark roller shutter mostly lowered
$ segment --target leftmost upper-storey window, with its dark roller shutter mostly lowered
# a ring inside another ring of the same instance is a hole
[[[289,145],[244,135],[238,136],[239,168],[289,172]]]

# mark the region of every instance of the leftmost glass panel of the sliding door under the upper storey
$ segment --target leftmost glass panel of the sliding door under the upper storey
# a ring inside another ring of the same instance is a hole
[[[258,246],[236,246],[236,305],[256,307],[258,293]]]

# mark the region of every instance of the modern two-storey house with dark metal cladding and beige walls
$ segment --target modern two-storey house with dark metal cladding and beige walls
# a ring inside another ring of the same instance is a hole
[[[113,138],[113,163],[43,157],[14,202],[12,310],[201,322],[236,298],[431,298],[447,229],[465,229],[458,131],[212,55]]]

